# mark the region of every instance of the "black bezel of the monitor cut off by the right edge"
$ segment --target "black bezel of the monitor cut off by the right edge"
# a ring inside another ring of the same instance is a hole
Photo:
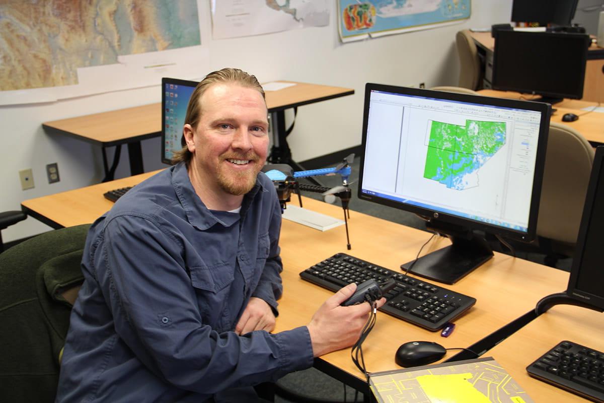
[[[570,278],[568,279],[567,295],[574,300],[583,301],[590,305],[596,306],[597,308],[604,309],[604,292],[603,295],[594,295],[590,292],[583,291],[578,288],[579,272],[585,266],[583,266],[583,254],[585,254],[586,237],[591,225],[591,216],[593,214],[594,207],[597,206],[596,193],[600,182],[604,182],[604,176],[602,165],[604,164],[604,146],[596,148],[596,155],[594,156],[594,163],[591,167],[590,182],[587,186],[587,192],[585,195],[585,205],[583,206],[583,214],[581,216],[581,224],[579,227],[579,234],[577,236],[577,243],[575,244],[573,253],[573,265],[571,266]],[[604,185],[604,183],[603,183]],[[600,207],[602,208],[602,207]]]

